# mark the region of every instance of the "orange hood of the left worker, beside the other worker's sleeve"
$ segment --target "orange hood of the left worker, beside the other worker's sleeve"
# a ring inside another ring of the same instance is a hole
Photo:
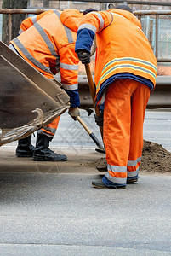
[[[82,19],[83,14],[81,14],[77,9],[65,9],[60,15],[60,21],[62,24],[69,27],[74,32],[77,32]]]

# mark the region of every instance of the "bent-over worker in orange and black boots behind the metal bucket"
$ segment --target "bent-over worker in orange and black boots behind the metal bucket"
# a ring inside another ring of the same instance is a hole
[[[60,72],[61,83],[70,96],[69,114],[73,119],[79,115],[80,105],[77,84],[78,58],[75,53],[77,28],[83,14],[76,9],[63,12],[48,10],[41,15],[24,20],[20,35],[9,45],[48,79]],[[60,117],[37,131],[36,148],[31,145],[31,136],[19,140],[17,156],[33,156],[33,160],[65,161],[66,155],[50,150],[49,142],[54,137]]]

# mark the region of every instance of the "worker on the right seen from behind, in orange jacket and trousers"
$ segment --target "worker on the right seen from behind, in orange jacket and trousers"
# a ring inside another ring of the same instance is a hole
[[[77,31],[76,52],[90,62],[96,34],[96,101],[105,94],[104,143],[108,172],[96,188],[124,189],[138,181],[145,108],[157,76],[157,61],[140,21],[127,5],[90,12]]]

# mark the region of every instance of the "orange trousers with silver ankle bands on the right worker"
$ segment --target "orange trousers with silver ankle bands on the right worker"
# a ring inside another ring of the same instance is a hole
[[[104,143],[107,184],[123,185],[139,175],[145,108],[151,90],[133,79],[116,79],[105,93]]]

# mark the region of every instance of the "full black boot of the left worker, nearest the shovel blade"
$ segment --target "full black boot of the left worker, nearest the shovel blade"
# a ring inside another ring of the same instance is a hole
[[[33,154],[33,160],[35,161],[66,161],[65,154],[56,154],[49,149],[49,142],[52,137],[48,137],[44,134],[37,133],[37,143]]]

